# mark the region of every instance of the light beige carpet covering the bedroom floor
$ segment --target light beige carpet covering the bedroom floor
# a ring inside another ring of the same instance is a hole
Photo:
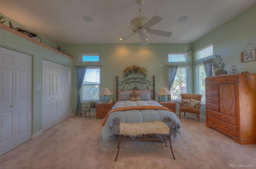
[[[70,117],[0,156],[0,169],[228,169],[256,167],[256,145],[240,145],[205,126],[205,120],[182,116],[182,136],[170,147],[159,141],[102,141],[103,119]]]

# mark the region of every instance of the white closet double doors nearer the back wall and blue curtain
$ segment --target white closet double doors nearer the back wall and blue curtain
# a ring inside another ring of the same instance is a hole
[[[71,115],[71,68],[43,60],[42,89],[45,131]]]

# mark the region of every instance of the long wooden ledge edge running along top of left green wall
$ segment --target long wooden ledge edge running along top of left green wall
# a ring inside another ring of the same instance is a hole
[[[11,33],[13,33],[13,34],[16,34],[17,36],[20,36],[20,37],[22,37],[22,38],[24,38],[24,39],[26,39],[26,40],[29,40],[29,41],[31,41],[31,42],[34,42],[35,44],[38,44],[38,45],[40,45],[40,46],[42,46],[42,47],[44,47],[44,48],[46,48],[46,49],[48,49],[48,50],[51,50],[51,51],[53,51],[53,52],[55,52],[55,53],[57,53],[57,54],[60,54],[60,55],[64,56],[64,57],[66,57],[66,58],[69,58],[69,59],[73,60],[72,57],[63,54],[63,53],[59,52],[58,50],[55,50],[54,48],[51,48],[50,46],[47,46],[46,44],[42,44],[41,42],[38,42],[37,40],[34,40],[33,38],[30,38],[29,36],[27,36],[27,35],[25,35],[25,34],[22,34],[21,32],[18,32],[17,30],[12,29],[12,28],[10,28],[10,27],[4,25],[4,24],[1,24],[1,23],[0,23],[0,28],[2,28],[2,29],[4,29],[4,30],[7,30],[8,32],[11,32]]]

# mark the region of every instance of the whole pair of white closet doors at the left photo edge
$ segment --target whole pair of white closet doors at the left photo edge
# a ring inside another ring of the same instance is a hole
[[[0,155],[31,138],[31,61],[0,47]]]

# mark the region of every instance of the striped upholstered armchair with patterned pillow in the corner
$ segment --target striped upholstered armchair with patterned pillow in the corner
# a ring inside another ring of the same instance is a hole
[[[198,118],[198,123],[200,121],[200,107],[202,105],[201,94],[188,94],[188,93],[182,93],[181,96],[181,102],[180,104],[180,112],[184,112],[184,116],[186,113],[194,113],[196,114],[196,117]]]

